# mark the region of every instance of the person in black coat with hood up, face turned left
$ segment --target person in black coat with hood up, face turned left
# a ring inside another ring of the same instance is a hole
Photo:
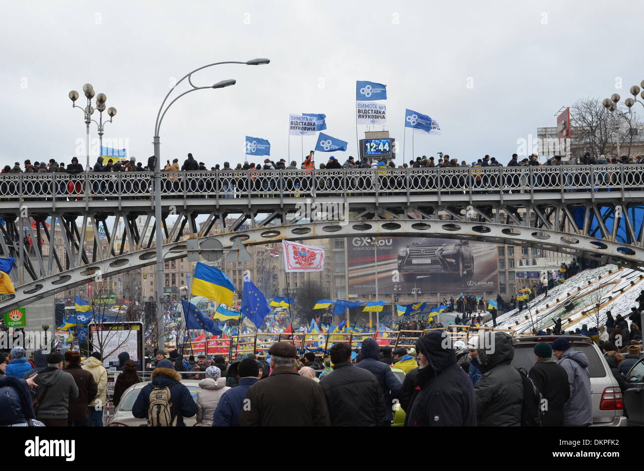
[[[419,369],[405,417],[406,427],[477,425],[474,387],[456,362],[446,332],[432,331],[416,340]]]

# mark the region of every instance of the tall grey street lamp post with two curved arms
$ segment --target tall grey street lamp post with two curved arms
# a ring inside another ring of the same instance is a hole
[[[213,64],[208,64],[206,66],[202,66],[200,68],[194,69],[190,73],[187,73],[184,75],[184,77],[181,78],[181,80],[178,80],[176,82],[175,86],[171,88],[167,94],[166,98],[164,98],[163,102],[161,103],[161,106],[159,107],[158,113],[156,113],[156,123],[155,123],[155,134],[153,137],[153,145],[155,149],[155,177],[154,177],[154,190],[155,190],[155,232],[156,232],[156,318],[158,319],[158,326],[161,329],[161,326],[163,325],[163,319],[164,319],[164,308],[163,308],[163,303],[164,303],[164,293],[163,293],[163,236],[161,234],[162,231],[162,226],[161,226],[161,142],[160,142],[160,128],[161,128],[161,122],[163,121],[164,116],[166,116],[167,110],[173,105],[176,100],[179,98],[183,97],[187,93],[191,93],[192,91],[195,90],[202,90],[202,89],[207,89],[207,88],[224,88],[228,87],[231,85],[234,85],[236,83],[236,80],[222,80],[221,82],[217,82],[216,84],[212,86],[207,86],[207,87],[197,87],[194,86],[192,82],[192,75],[193,73],[200,71],[201,69],[205,69],[207,67],[211,66],[218,66],[221,64],[245,64],[247,66],[258,66],[261,64],[268,64],[270,62],[269,59],[252,59],[252,60],[247,60],[246,62],[240,62],[238,60],[227,60],[224,62],[214,62]],[[188,83],[192,87],[188,91],[184,91],[181,95],[176,97],[174,100],[170,102],[168,106],[166,106],[166,101],[167,98],[170,96],[170,94],[173,92],[173,90],[183,82],[185,79],[188,79]],[[164,109],[164,106],[165,109]],[[166,334],[165,332],[159,332],[158,335],[158,343],[159,346],[162,348],[165,348],[166,345]]]

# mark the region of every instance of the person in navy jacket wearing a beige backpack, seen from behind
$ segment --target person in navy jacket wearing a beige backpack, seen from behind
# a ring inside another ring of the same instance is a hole
[[[151,374],[152,381],[141,388],[137,400],[132,406],[132,415],[138,419],[147,419],[147,409],[150,405],[150,393],[154,387],[167,387],[170,390],[173,412],[176,416],[176,427],[185,427],[184,417],[192,417],[197,413],[193,396],[180,381],[179,373],[173,368],[170,360],[161,360]]]

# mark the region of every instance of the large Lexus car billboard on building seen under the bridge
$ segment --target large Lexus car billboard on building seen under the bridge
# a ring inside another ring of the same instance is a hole
[[[348,292],[379,294],[498,292],[495,244],[432,237],[378,237],[377,270],[370,237],[350,237],[347,243]]]

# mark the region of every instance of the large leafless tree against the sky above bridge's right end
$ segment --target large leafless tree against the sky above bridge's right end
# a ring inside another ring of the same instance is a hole
[[[574,144],[582,145],[586,151],[598,157],[601,154],[617,154],[616,138],[624,150],[632,145],[631,129],[641,126],[637,116],[625,107],[619,107],[613,118],[598,98],[580,98],[571,107],[571,134]],[[617,126],[614,122],[617,120]],[[625,120],[625,125],[621,120]]]

